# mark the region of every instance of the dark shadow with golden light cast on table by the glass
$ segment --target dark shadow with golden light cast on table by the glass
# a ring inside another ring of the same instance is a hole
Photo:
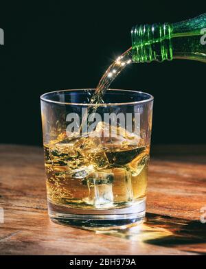
[[[128,229],[95,231],[132,241],[144,242],[157,246],[184,246],[206,243],[206,224],[198,221],[187,221],[163,215],[148,213],[146,222]],[[184,248],[182,248],[184,250]],[[187,248],[195,253],[205,253],[206,248]]]

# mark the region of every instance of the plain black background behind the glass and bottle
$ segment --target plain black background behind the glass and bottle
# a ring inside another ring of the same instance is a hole
[[[94,88],[130,47],[133,25],[204,12],[206,1],[1,1],[0,143],[41,145],[40,95]],[[205,67],[188,60],[132,65],[111,87],[155,96],[152,143],[205,143]]]

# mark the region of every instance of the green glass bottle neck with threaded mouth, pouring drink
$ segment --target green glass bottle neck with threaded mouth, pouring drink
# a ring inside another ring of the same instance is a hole
[[[206,13],[180,23],[137,25],[131,34],[133,62],[172,59],[206,62]]]

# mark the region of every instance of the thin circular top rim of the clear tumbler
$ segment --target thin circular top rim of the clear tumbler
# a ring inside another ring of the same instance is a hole
[[[72,105],[72,106],[122,106],[122,105],[133,105],[133,104],[144,104],[148,103],[154,100],[154,97],[150,95],[150,93],[145,93],[144,91],[134,91],[134,90],[125,90],[125,89],[107,89],[106,91],[125,91],[125,92],[132,92],[132,93],[140,93],[148,95],[148,99],[141,100],[141,101],[133,101],[133,102],[117,102],[117,103],[102,103],[102,104],[90,104],[90,103],[73,103],[73,102],[60,102],[60,101],[54,101],[45,99],[45,95],[49,95],[51,93],[63,93],[66,91],[95,91],[95,89],[65,89],[65,90],[59,90],[59,91],[50,91],[48,93],[43,93],[43,95],[40,96],[41,101],[53,103],[53,104],[66,104],[66,105]]]

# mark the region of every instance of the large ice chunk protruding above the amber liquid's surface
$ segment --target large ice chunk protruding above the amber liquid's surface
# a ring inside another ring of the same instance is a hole
[[[119,161],[117,165],[132,161],[141,150],[137,149],[132,154],[129,151],[128,154],[123,154],[123,151],[130,150],[133,145],[135,145],[134,148],[143,145],[141,137],[124,128],[100,121],[95,130],[87,134],[87,137],[81,137],[76,141],[74,148],[89,159],[96,169],[106,169],[113,164],[113,159]]]

